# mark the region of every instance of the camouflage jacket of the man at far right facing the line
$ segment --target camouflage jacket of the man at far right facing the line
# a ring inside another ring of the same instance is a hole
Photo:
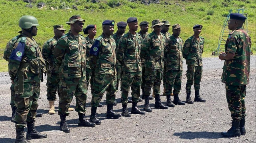
[[[228,35],[225,51],[234,54],[234,58],[225,60],[222,82],[236,86],[249,83],[251,45],[251,38],[242,27],[238,27]]]

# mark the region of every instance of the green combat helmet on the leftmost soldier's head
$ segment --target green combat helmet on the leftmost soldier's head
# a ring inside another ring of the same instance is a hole
[[[22,29],[29,29],[32,26],[39,26],[39,24],[34,16],[22,16],[19,21],[19,26]]]

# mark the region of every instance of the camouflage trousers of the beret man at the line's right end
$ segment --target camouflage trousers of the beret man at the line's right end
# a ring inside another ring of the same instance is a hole
[[[191,86],[194,83],[195,91],[200,90],[200,82],[202,79],[203,66],[188,65],[186,92],[191,92]]]

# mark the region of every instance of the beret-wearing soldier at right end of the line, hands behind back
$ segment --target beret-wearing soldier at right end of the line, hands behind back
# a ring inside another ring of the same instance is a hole
[[[186,84],[186,103],[194,104],[190,98],[191,86],[194,83],[195,88],[195,102],[206,102],[202,97],[200,97],[200,82],[202,78],[203,63],[202,54],[204,50],[204,38],[199,36],[202,31],[202,25],[194,25],[194,35],[189,37],[183,46],[182,56],[186,59],[186,65],[188,65],[187,70],[187,84]]]

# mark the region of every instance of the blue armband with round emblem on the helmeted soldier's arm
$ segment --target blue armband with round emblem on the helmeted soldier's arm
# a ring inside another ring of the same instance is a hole
[[[21,61],[24,55],[24,50],[25,50],[25,43],[20,41],[16,49],[12,50],[10,60]]]

